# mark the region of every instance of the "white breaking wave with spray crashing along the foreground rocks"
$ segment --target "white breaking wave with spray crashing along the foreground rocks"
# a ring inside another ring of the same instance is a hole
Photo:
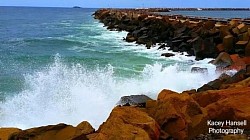
[[[181,71],[180,67],[147,65],[139,75],[119,78],[111,65],[90,70],[80,64],[66,65],[56,55],[43,70],[24,75],[22,92],[0,103],[0,126],[25,129],[61,122],[77,125],[87,120],[98,128],[121,96],[156,98],[164,88],[180,92],[218,77],[213,67],[208,74]]]

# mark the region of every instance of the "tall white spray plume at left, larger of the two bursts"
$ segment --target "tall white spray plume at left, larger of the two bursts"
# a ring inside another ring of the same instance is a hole
[[[66,66],[57,55],[53,64],[25,75],[26,89],[1,105],[0,126],[76,125],[82,120],[99,125],[98,118],[108,115],[113,107],[106,108],[110,92],[104,88],[112,85],[108,79],[112,73],[111,68],[90,72],[79,64]]]

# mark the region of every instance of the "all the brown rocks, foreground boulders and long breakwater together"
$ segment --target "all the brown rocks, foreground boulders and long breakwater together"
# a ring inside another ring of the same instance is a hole
[[[145,44],[147,48],[161,43],[159,49],[186,52],[197,60],[214,58],[211,63],[218,70],[238,72],[233,76],[224,73],[198,89],[182,93],[164,89],[156,100],[145,95],[124,96],[98,130],[86,121],[76,127],[58,124],[27,130],[0,128],[0,140],[250,139],[250,28],[247,23],[237,19],[223,23],[213,19],[191,20],[122,9],[101,9],[94,16],[110,30],[128,31],[125,38],[128,42]],[[193,72],[205,71],[193,69]],[[242,125],[220,126],[208,122],[226,120]],[[209,134],[212,128],[244,129],[244,133]]]

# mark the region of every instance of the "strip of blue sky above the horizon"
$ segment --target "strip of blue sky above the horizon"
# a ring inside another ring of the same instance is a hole
[[[0,0],[0,6],[250,8],[250,0]]]

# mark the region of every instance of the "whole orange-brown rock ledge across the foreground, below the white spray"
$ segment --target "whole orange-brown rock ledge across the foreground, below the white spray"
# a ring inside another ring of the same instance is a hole
[[[241,79],[235,80],[235,76]],[[243,76],[244,75],[244,76]],[[224,76],[225,78],[226,76]],[[217,89],[177,93],[164,89],[145,106],[115,107],[98,130],[86,121],[76,127],[48,125],[27,130],[0,128],[1,140],[188,140],[250,138],[250,77],[244,71],[226,77]],[[228,84],[230,81],[231,83]],[[209,82],[211,83],[211,82]],[[134,97],[134,96],[131,96]],[[140,97],[140,96],[138,96]],[[144,97],[145,96],[141,96]],[[129,98],[126,96],[126,98]],[[141,100],[139,100],[141,103]],[[240,122],[241,125],[212,125],[210,122]],[[244,122],[244,123],[241,123]],[[244,129],[243,134],[214,134],[213,129]]]

